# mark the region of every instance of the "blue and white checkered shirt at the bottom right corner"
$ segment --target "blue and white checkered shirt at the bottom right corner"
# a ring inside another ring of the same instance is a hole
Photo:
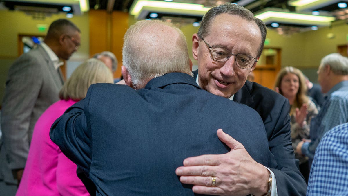
[[[348,195],[348,123],[329,130],[319,143],[307,195]]]

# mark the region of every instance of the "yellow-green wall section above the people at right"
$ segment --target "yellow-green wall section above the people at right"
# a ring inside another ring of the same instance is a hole
[[[333,33],[334,38],[326,37]],[[300,68],[308,78],[317,82],[316,70],[320,60],[327,54],[337,52],[339,45],[347,43],[348,25],[344,21],[333,22],[331,27],[322,27],[317,31],[294,33],[291,36],[278,35],[274,30],[267,31],[270,47],[282,49],[282,67]]]

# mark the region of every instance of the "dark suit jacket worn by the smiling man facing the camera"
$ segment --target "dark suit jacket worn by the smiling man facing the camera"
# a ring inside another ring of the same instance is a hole
[[[193,74],[196,79],[198,70]],[[252,107],[263,120],[269,149],[278,164],[270,167],[276,176],[278,195],[306,195],[306,182],[291,146],[288,99],[258,83],[246,81],[233,100]]]

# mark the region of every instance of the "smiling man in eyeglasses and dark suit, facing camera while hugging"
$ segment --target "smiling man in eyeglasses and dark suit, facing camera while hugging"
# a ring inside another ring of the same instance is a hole
[[[269,149],[277,161],[275,168],[256,169],[256,161],[245,161],[247,153],[187,158],[176,174],[181,175],[182,183],[195,185],[195,193],[306,194],[306,182],[291,146],[288,101],[270,89],[246,81],[255,69],[265,39],[266,25],[249,10],[231,3],[211,8],[198,33],[192,36],[193,58],[198,61],[198,70],[193,71],[196,82],[215,95],[254,108],[263,120]]]

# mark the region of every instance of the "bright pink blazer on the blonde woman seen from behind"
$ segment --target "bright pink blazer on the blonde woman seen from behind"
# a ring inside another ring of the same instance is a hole
[[[36,122],[17,196],[89,195],[77,177],[77,166],[49,138],[53,122],[74,103],[73,100],[57,101]]]

